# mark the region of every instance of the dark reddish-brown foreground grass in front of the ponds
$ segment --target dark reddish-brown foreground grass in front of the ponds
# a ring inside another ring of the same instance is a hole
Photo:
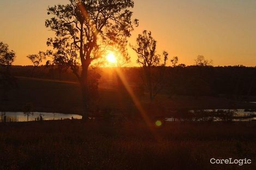
[[[0,123],[0,169],[256,169],[256,124]],[[157,136],[157,137],[156,137]],[[252,159],[211,165],[210,159]]]

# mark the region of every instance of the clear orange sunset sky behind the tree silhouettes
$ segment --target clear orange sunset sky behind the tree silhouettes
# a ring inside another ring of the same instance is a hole
[[[68,0],[1,0],[0,41],[8,43],[17,58],[15,65],[29,65],[26,55],[45,51],[48,5]],[[197,55],[212,59],[214,65],[256,65],[255,0],[135,0],[134,17],[139,27],[130,43],[142,30],[151,30],[157,51],[165,49],[179,56],[180,63],[192,65]],[[136,54],[130,52],[131,66]]]

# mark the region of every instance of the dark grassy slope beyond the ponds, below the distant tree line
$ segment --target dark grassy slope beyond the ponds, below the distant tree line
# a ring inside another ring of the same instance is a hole
[[[17,78],[18,89],[9,92],[9,100],[1,101],[0,111],[22,111],[22,106],[26,103],[32,103],[34,111],[38,112],[60,112],[67,114],[81,114],[82,98],[80,86],[74,82],[55,81],[46,79]],[[100,84],[99,89],[101,109],[111,108],[123,112],[136,112],[136,108],[129,95],[117,91],[115,87],[109,88]],[[149,102],[147,94],[138,96],[139,101],[145,108],[148,108]],[[174,96],[168,98],[166,95],[160,95],[151,108],[157,112],[162,110],[175,109],[253,109],[256,104],[234,102],[229,99],[219,97],[188,97]],[[161,113],[163,114],[163,111]],[[168,114],[168,113],[167,113]]]

